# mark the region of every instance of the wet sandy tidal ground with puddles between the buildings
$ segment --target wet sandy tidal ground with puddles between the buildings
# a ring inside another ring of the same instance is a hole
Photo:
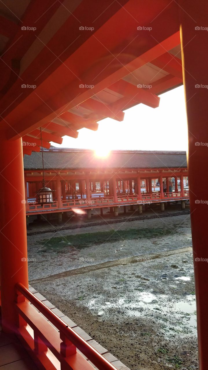
[[[66,240],[112,227],[170,226],[166,236],[83,248]],[[35,289],[132,370],[198,369],[189,216],[61,231],[50,248],[53,236],[28,237]]]

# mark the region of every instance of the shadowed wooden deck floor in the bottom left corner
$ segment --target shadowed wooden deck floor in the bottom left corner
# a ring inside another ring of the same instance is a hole
[[[38,370],[16,336],[3,333],[0,327],[1,370]]]

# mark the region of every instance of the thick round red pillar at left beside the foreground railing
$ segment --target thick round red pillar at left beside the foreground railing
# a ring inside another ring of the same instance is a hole
[[[14,332],[17,282],[28,288],[22,140],[0,138],[0,281],[4,332]]]

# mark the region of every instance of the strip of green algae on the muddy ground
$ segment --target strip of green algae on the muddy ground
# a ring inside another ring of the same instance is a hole
[[[166,236],[174,233],[172,228],[143,228],[143,229],[127,229],[127,230],[110,230],[96,233],[84,233],[75,235],[65,235],[43,239],[41,243],[47,249],[62,249],[63,246],[71,246],[83,248],[93,244],[113,243],[117,241],[132,240],[132,239],[149,239],[158,236]],[[40,242],[38,241],[38,244]]]

